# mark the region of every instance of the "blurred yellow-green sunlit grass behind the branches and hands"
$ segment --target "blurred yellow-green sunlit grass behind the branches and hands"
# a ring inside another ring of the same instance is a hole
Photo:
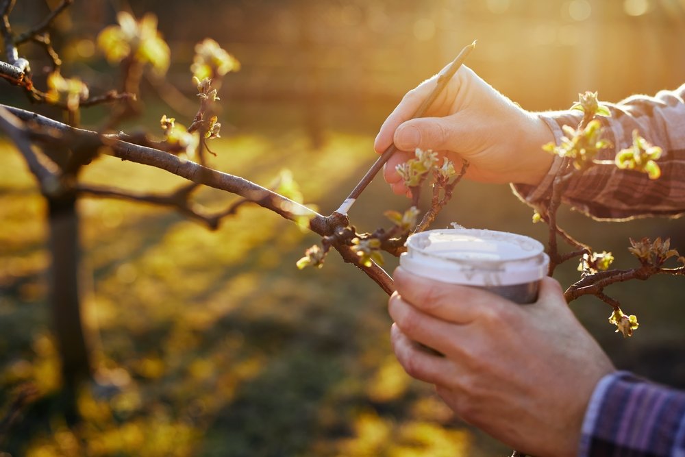
[[[328,132],[325,146],[313,150],[297,131],[247,132],[214,145],[219,157],[212,162],[260,184],[287,165],[306,201],[327,214],[373,160],[371,144],[368,135]],[[510,451],[454,418],[429,386],[403,372],[388,341],[386,296],[371,280],[335,254],[321,271],[297,271],[295,262],[316,237],[252,207],[210,232],[165,209],[80,201],[84,312],[97,382],[79,396],[83,423],[69,428],[46,297],[45,204],[6,144],[0,160],[0,399],[6,405],[22,386],[38,388],[38,399],[0,443],[6,452],[404,457]],[[83,179],[136,191],[182,184],[166,172],[108,157],[88,166]],[[232,198],[216,190],[199,195],[216,209]],[[374,182],[351,217],[361,230],[373,230],[384,224],[384,210],[405,207]],[[435,226],[458,221],[544,239],[544,227],[530,224],[530,215],[506,188],[464,183]],[[658,232],[649,221],[607,226],[573,213],[564,214],[564,224],[591,245],[616,252],[625,250],[628,234]],[[682,222],[658,227],[682,233]],[[685,251],[683,238],[674,241]],[[394,262],[388,260],[389,269]],[[568,283],[576,274],[572,266],[560,279]],[[630,341],[612,333],[606,305],[582,300],[574,307],[619,367],[683,386],[677,351],[669,370],[647,361],[658,349],[682,347],[685,324],[664,316],[681,301],[685,282],[650,284],[612,291],[643,324]]]

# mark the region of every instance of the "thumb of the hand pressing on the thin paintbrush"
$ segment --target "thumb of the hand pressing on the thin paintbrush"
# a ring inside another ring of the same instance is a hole
[[[402,151],[452,149],[450,144],[455,135],[454,119],[451,117],[422,117],[411,119],[397,127],[395,146]]]

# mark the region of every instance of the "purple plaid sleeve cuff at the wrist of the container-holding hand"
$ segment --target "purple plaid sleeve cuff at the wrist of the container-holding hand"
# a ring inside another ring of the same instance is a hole
[[[618,371],[602,378],[582,426],[579,457],[684,457],[685,393]]]

